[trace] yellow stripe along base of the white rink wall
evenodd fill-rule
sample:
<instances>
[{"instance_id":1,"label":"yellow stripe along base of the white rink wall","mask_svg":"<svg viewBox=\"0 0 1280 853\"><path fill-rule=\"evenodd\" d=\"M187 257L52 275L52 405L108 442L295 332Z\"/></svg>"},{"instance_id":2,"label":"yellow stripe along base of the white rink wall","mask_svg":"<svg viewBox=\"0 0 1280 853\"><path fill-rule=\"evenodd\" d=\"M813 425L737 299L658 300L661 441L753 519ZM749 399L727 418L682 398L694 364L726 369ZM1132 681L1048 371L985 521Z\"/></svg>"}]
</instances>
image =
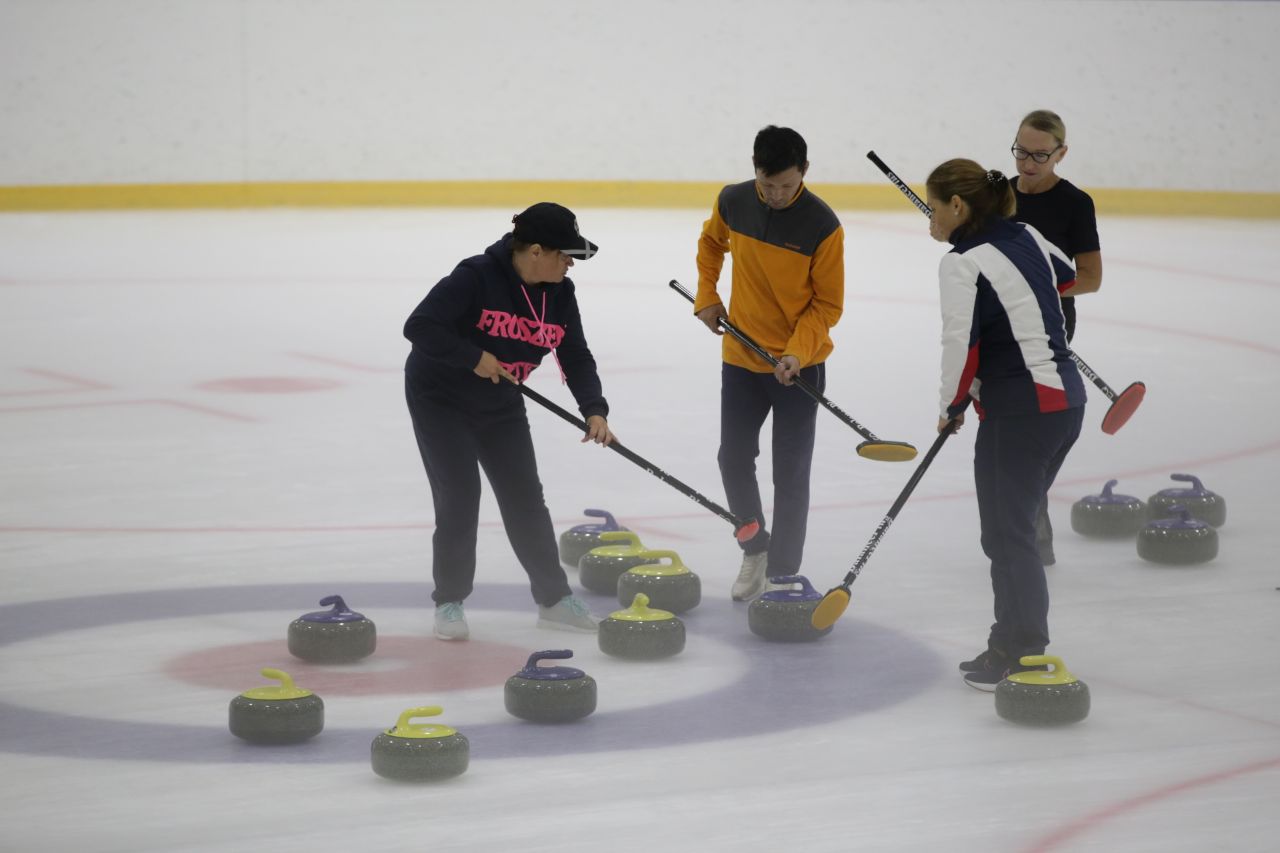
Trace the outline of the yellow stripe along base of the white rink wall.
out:
<instances>
[{"instance_id":1,"label":"yellow stripe along base of the white rink wall","mask_svg":"<svg viewBox=\"0 0 1280 853\"><path fill-rule=\"evenodd\" d=\"M242 207L705 207L723 183L676 181L344 181L0 187L0 211ZM837 210L911 210L888 184L813 184ZM916 187L916 192L924 192ZM1277 192L1089 190L1101 215L1280 219Z\"/></svg>"}]
</instances>

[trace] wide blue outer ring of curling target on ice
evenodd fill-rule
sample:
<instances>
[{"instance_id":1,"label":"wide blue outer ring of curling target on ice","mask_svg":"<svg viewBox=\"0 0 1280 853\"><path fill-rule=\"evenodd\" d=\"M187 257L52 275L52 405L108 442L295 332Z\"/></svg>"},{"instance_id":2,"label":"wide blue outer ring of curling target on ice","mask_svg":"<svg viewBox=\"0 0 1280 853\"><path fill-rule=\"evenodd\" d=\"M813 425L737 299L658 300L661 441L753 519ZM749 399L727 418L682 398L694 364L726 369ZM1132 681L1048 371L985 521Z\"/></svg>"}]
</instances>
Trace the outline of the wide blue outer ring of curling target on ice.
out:
<instances>
[{"instance_id":1,"label":"wide blue outer ring of curling target on ice","mask_svg":"<svg viewBox=\"0 0 1280 853\"><path fill-rule=\"evenodd\" d=\"M0 606L0 646L69 630L145 622L175 616L248 611L291 611L317 599L333 584L270 584L111 593ZM416 607L428 611L424 583L342 584L362 608ZM605 597L588 596L596 610ZM470 599L484 610L531 611L527 587L480 584ZM471 740L471 757L536 758L607 751L646 749L737 738L765 736L835 722L904 702L941 676L941 661L920 642L846 616L836 633L815 643L768 643L746 628L741 606L704 605L685 613L691 642L699 634L733 643L750 654L741 678L695 695L625 711L596 712L572 725L540 726L512 719L456 724ZM678 671L680 660L669 662ZM677 675L678 678L678 675ZM3 683L0 683L3 686ZM69 697L69 703L74 702ZM129 722L29 708L0 699L0 751L19 754L173 761L188 763L367 762L369 744L388 720L361 729L325 729L288 747L247 744L225 726Z\"/></svg>"}]
</instances>

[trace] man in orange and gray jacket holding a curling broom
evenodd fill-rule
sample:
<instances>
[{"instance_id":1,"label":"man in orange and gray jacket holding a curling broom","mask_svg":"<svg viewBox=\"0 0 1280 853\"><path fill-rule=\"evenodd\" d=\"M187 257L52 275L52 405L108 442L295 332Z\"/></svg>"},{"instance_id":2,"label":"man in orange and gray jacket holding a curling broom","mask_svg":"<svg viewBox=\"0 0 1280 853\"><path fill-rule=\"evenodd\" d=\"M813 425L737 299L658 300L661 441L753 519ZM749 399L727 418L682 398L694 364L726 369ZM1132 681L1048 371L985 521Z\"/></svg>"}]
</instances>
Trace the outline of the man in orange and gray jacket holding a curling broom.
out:
<instances>
[{"instance_id":1,"label":"man in orange and gray jacket holding a curling broom","mask_svg":"<svg viewBox=\"0 0 1280 853\"><path fill-rule=\"evenodd\" d=\"M760 520L760 533L742 544L735 601L759 596L767 578L800 571L818 403L792 387L792 378L824 391L829 330L845 305L845 232L831 207L804 186L804 138L771 124L756 134L751 161L755 181L724 187L703 224L694 302L712 332L722 334L719 318L727 318L778 360L771 368L736 338L723 339L721 478L730 511ZM724 252L733 255L727 311L716 291ZM771 411L772 532L755 478L760 428Z\"/></svg>"}]
</instances>

